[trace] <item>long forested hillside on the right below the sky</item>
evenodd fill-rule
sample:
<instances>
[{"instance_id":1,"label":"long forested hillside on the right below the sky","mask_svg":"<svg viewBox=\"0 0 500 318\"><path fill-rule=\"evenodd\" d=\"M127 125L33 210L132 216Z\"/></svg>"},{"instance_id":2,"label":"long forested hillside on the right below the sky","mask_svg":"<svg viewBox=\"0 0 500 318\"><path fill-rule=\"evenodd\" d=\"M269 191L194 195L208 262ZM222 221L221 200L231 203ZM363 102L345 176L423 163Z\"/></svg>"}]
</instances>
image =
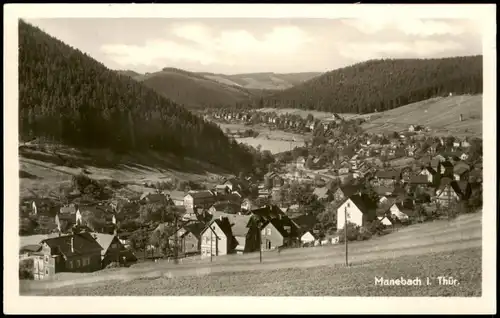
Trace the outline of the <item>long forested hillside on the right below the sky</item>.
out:
<instances>
[{"instance_id":1,"label":"long forested hillside on the right below the sky","mask_svg":"<svg viewBox=\"0 0 500 318\"><path fill-rule=\"evenodd\" d=\"M254 107L370 113L483 90L482 56L371 60L256 99Z\"/></svg>"}]
</instances>

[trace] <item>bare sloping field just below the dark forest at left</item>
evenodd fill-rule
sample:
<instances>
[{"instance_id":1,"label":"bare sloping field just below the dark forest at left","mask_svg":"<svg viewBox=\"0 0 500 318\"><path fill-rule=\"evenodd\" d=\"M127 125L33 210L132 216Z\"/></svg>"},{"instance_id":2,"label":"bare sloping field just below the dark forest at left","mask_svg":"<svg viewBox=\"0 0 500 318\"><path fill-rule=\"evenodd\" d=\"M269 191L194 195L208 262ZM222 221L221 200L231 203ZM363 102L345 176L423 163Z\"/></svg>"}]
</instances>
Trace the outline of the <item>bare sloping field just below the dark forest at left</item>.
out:
<instances>
[{"instance_id":1,"label":"bare sloping field just below the dark forest at left","mask_svg":"<svg viewBox=\"0 0 500 318\"><path fill-rule=\"evenodd\" d=\"M76 167L69 167L60 162L58 155L77 162ZM162 182L169 178L179 180L207 181L216 180L225 175L224 171L208 164L190 159L179 159L155 153L141 156L121 156L112 158L112 154L102 152L79 153L70 149L52 152L23 150L19 156L20 197L31 197L33 193L46 196L59 185L69 184L74 175L82 168L93 179L114 179L127 184L122 191L142 193L151 191L144 183ZM95 158L98 158L97 161ZM107 158L108 161L100 161ZM110 159L111 158L111 159ZM142 162L140 164L138 162Z\"/></svg>"}]
</instances>

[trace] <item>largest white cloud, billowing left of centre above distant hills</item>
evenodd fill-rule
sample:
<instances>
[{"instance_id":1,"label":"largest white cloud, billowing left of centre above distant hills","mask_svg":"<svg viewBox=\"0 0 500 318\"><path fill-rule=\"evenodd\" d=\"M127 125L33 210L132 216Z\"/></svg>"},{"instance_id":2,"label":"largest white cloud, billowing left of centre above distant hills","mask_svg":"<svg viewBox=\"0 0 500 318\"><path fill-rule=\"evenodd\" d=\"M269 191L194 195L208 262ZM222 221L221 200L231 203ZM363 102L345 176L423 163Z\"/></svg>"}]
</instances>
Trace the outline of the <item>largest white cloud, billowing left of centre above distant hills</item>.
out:
<instances>
[{"instance_id":1,"label":"largest white cloud, billowing left of centre above distant hills","mask_svg":"<svg viewBox=\"0 0 500 318\"><path fill-rule=\"evenodd\" d=\"M294 54L309 41L308 34L297 27L273 28L263 39L237 29L215 34L200 23L178 23L169 28L169 32L198 46L174 42L165 36L144 45L107 44L101 47L101 51L121 66L151 66L165 60L234 65L258 58Z\"/></svg>"}]
</instances>

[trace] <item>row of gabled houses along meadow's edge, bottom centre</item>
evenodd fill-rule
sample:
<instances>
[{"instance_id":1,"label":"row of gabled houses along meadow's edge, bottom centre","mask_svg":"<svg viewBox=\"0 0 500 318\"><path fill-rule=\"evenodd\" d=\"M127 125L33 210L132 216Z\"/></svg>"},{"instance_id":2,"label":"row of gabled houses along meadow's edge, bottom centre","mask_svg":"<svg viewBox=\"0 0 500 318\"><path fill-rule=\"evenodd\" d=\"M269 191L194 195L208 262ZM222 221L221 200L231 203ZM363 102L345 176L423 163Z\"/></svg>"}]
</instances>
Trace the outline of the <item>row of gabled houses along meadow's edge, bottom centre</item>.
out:
<instances>
[{"instance_id":1,"label":"row of gabled houses along meadow's edge, bottom centre","mask_svg":"<svg viewBox=\"0 0 500 318\"><path fill-rule=\"evenodd\" d=\"M184 255L201 257L243 254L279 247L293 246L300 241L300 231L283 211L267 205L235 214L206 211L208 218L188 220L168 236L168 244L177 242ZM155 231L168 227L160 225Z\"/></svg>"}]
</instances>

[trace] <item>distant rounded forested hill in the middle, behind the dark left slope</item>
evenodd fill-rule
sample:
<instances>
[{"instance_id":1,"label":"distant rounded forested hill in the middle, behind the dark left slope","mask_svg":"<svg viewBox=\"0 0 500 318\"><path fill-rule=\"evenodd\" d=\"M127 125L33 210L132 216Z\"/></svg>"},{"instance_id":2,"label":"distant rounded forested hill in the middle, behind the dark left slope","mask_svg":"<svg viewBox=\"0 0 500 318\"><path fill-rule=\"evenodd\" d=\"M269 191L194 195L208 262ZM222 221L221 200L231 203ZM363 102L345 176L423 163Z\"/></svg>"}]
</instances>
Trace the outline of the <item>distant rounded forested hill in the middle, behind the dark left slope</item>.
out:
<instances>
[{"instance_id":1,"label":"distant rounded forested hill in the middle, behind the dark left slope","mask_svg":"<svg viewBox=\"0 0 500 318\"><path fill-rule=\"evenodd\" d=\"M222 84L176 68L164 68L159 72L133 78L161 95L190 108L248 103L251 96L254 96L244 88Z\"/></svg>"}]
</instances>

